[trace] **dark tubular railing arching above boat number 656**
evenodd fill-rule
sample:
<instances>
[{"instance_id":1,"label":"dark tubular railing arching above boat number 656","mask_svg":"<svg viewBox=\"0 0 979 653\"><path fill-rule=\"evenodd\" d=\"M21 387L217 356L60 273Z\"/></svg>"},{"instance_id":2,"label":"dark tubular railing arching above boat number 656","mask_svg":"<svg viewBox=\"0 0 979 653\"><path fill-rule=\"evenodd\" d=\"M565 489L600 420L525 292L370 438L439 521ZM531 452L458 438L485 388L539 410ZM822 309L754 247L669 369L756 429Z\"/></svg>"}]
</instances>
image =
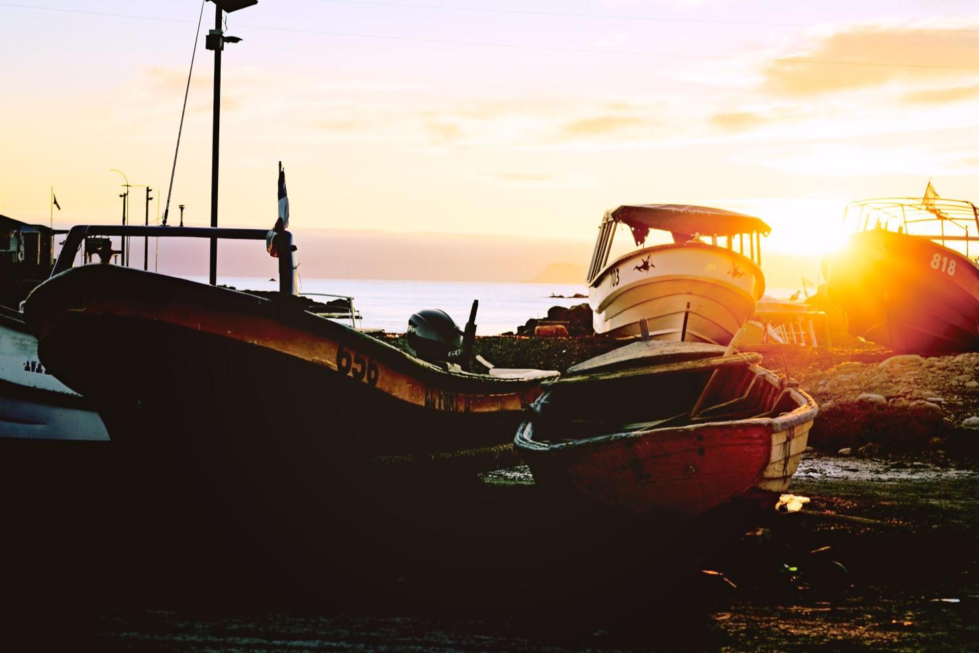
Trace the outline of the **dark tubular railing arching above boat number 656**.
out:
<instances>
[{"instance_id":1,"label":"dark tubular railing arching above boat number 656","mask_svg":"<svg viewBox=\"0 0 979 653\"><path fill-rule=\"evenodd\" d=\"M75 257L91 236L144 236L148 238L210 238L212 240L262 240L269 235L269 229L234 228L225 226L138 226L138 225L76 225L69 229L58 260L55 261L51 276L74 267ZM277 239L276 251L279 263L279 291L296 295L296 254L293 234L280 231L274 234Z\"/></svg>"}]
</instances>

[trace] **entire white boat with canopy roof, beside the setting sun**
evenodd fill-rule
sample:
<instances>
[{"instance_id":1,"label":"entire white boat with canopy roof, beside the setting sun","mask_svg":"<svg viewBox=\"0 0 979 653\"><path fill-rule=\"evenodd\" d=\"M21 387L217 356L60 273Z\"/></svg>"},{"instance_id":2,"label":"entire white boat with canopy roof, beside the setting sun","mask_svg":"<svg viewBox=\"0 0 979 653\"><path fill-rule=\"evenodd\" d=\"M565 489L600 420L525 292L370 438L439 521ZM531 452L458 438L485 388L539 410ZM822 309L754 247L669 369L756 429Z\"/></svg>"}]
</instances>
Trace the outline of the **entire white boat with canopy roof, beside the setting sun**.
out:
<instances>
[{"instance_id":1,"label":"entire white boat with canopy roof, beside the setting sun","mask_svg":"<svg viewBox=\"0 0 979 653\"><path fill-rule=\"evenodd\" d=\"M639 249L609 263L620 225ZM662 242L646 246L651 230ZM653 339L728 344L765 292L762 234L769 230L758 218L699 206L606 212L587 277L595 332L635 337L646 320Z\"/></svg>"}]
</instances>

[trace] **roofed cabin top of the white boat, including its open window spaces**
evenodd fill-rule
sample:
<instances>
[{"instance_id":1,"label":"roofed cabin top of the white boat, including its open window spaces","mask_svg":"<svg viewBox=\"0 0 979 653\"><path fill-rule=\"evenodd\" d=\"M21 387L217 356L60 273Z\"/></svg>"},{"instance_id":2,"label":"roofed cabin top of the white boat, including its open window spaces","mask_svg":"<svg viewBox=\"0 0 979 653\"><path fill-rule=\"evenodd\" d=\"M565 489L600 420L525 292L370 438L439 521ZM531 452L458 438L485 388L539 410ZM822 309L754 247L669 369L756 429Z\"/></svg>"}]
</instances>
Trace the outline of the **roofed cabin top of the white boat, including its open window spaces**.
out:
<instances>
[{"instance_id":1,"label":"roofed cabin top of the white boat, including its open window spaces","mask_svg":"<svg viewBox=\"0 0 979 653\"><path fill-rule=\"evenodd\" d=\"M616 238L623 230L629 234ZM606 211L598 226L586 281L591 283L601 275L610 259L636 247L691 241L737 251L761 265L762 235L768 235L769 230L758 218L723 209L686 204L620 206Z\"/></svg>"}]
</instances>

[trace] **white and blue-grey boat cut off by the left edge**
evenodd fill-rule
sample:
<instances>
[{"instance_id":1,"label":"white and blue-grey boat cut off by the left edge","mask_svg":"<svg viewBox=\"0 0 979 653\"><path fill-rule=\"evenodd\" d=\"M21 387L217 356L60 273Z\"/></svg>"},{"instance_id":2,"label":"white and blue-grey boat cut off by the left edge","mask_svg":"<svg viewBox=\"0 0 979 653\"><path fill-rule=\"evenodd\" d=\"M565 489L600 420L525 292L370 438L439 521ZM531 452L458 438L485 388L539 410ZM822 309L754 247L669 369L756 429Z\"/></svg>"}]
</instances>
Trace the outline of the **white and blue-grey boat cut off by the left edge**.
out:
<instances>
[{"instance_id":1,"label":"white and blue-grey boat cut off by the left edge","mask_svg":"<svg viewBox=\"0 0 979 653\"><path fill-rule=\"evenodd\" d=\"M109 439L98 413L37 358L37 338L0 306L0 439Z\"/></svg>"}]
</instances>

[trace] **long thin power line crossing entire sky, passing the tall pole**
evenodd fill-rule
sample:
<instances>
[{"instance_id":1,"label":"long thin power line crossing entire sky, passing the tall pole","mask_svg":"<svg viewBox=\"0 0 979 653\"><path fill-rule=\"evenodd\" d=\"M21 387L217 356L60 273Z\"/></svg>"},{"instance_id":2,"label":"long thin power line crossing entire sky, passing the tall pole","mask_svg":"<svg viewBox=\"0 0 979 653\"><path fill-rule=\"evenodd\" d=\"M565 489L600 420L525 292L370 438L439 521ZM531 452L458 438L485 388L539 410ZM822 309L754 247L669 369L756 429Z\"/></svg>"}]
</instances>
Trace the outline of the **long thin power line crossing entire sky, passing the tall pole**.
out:
<instances>
[{"instance_id":1,"label":"long thin power line crossing entire sky, passing the tall pole","mask_svg":"<svg viewBox=\"0 0 979 653\"><path fill-rule=\"evenodd\" d=\"M334 0L326 0L334 1ZM340 1L340 0L335 0ZM348 0L350 1L350 0ZM80 9L63 9L60 7L37 7L28 5L12 4L7 2L0 2L0 7L12 7L16 9L33 9L39 11L54 11L63 12L68 14L84 14L91 16L101 16L101 17L112 17L112 18L122 18L122 19L136 19L141 21L164 21L167 23L193 23L193 21L185 21L182 19L170 19L154 16L135 16L131 14L112 14L108 12L91 12L87 10ZM390 34L367 34L367 33L356 33L348 31L328 31L322 29L303 29L300 27L271 27L268 25L237 25L238 27L245 27L249 29L263 29L267 31L282 31L282 32L292 32L292 33L303 33L303 34L320 34L324 36L344 36L350 38L370 38L370 39L380 39L380 40L391 40L391 41L407 41L415 43L441 43L448 45L466 45L466 46L478 46L478 47L492 47L492 48L510 48L510 49L522 49L522 50L536 50L544 52L579 52L583 54L602 54L602 55L629 55L629 56L642 56L642 57L667 57L674 59L695 59L695 60L713 60L713 61L755 61L757 63L782 63L782 64L804 64L804 65L814 65L814 66L869 66L874 68L908 68L908 69L924 69L924 70L948 70L948 71L979 71L979 67L974 66L938 66L933 64L896 64L891 62L863 62L863 61L826 61L818 59L797 59L797 58L779 58L779 59L752 59L751 57L743 56L731 56L731 55L707 55L707 54L685 54L678 52L652 52L645 50L603 50L599 48L573 48L573 47L562 47L562 46L551 46L551 45L528 45L521 43L495 43L491 41L467 41L467 40L455 40L455 39L444 39L444 38L426 38L421 36L395 36Z\"/></svg>"}]
</instances>

